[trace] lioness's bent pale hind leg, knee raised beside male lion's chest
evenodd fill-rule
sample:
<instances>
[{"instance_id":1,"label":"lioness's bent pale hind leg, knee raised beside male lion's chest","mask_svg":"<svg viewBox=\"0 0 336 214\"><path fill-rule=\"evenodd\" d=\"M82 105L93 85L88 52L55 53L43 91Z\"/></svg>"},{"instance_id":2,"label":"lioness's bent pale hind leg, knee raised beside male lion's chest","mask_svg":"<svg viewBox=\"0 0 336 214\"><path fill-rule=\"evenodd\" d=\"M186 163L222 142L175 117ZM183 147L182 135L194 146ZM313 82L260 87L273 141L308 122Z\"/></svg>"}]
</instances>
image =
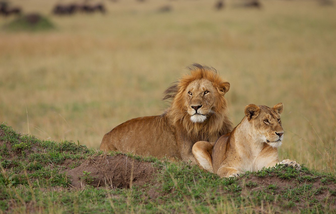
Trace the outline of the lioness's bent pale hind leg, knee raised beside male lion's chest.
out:
<instances>
[{"instance_id":1,"label":"lioness's bent pale hind leg, knee raised beside male lion's chest","mask_svg":"<svg viewBox=\"0 0 336 214\"><path fill-rule=\"evenodd\" d=\"M213 172L211 154L214 144L207 141L199 141L192 148L197 164L201 169L208 172Z\"/></svg>"}]
</instances>

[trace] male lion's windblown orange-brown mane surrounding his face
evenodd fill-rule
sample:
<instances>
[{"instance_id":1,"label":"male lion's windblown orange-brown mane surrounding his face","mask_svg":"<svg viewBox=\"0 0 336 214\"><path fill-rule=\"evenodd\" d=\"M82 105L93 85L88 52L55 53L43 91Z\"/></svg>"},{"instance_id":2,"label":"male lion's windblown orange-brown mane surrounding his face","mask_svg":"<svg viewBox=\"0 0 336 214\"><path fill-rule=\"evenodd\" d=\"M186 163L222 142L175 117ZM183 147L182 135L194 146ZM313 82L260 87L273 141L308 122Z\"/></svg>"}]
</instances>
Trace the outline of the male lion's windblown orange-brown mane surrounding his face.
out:
<instances>
[{"instance_id":1,"label":"male lion's windblown orange-brown mane surrounding his face","mask_svg":"<svg viewBox=\"0 0 336 214\"><path fill-rule=\"evenodd\" d=\"M230 132L233 124L229 119L227 101L222 92L222 85L226 83L222 79L217 70L213 67L193 64L187 67L190 74L182 76L179 81L173 83L164 92L163 100L170 101L170 107L165 111L173 125L180 127L185 137L191 139L202 139L202 141L214 142L218 136ZM218 90L214 107L211 115L208 116L203 123L194 123L190 120L190 115L184 107L185 90L187 86L201 78L206 78L212 82L213 86Z\"/></svg>"}]
</instances>

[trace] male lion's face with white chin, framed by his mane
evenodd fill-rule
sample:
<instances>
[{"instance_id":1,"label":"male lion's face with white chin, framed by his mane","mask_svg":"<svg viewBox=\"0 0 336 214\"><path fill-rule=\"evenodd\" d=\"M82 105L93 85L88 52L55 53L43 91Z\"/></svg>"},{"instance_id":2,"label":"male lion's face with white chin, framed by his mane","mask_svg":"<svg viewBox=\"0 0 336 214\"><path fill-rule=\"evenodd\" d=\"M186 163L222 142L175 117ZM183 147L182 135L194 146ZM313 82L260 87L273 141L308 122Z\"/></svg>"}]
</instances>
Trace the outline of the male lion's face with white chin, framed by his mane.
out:
<instances>
[{"instance_id":1,"label":"male lion's face with white chin, framed by his mane","mask_svg":"<svg viewBox=\"0 0 336 214\"><path fill-rule=\"evenodd\" d=\"M212 108L219 93L209 80L197 79L191 82L184 93L185 108L191 121L202 123L214 113Z\"/></svg>"}]
</instances>

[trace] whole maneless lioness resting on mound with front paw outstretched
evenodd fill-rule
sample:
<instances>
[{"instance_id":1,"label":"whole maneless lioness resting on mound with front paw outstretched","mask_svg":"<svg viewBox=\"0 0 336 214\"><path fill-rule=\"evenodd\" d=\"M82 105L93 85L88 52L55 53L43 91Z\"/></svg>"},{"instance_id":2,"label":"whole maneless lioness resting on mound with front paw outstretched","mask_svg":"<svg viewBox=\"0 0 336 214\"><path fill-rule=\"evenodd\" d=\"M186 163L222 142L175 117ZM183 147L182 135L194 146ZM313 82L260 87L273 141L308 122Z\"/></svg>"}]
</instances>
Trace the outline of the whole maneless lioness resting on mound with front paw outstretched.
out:
<instances>
[{"instance_id":1,"label":"whole maneless lioness resting on mound with front paw outstretched","mask_svg":"<svg viewBox=\"0 0 336 214\"><path fill-rule=\"evenodd\" d=\"M279 163L278 147L284 138L280 120L283 109L282 103L273 108L247 105L246 116L231 133L215 143L195 143L192 151L196 162L201 169L220 177L237 177L241 171L258 171L277 163L299 171L301 167L295 161L286 159Z\"/></svg>"}]
</instances>

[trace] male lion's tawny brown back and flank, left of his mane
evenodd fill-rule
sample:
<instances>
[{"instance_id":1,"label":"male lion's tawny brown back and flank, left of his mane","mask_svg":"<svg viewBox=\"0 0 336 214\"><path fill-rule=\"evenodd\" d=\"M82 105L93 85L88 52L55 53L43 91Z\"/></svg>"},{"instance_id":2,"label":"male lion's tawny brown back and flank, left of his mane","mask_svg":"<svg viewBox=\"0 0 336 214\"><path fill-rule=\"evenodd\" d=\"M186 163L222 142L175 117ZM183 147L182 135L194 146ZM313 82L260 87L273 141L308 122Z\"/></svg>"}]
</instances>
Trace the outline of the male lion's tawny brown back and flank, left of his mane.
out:
<instances>
[{"instance_id":1,"label":"male lion's tawny brown back and flank, left of his mane","mask_svg":"<svg viewBox=\"0 0 336 214\"><path fill-rule=\"evenodd\" d=\"M131 152L158 158L180 158L174 134L167 125L166 116L146 116L127 120L104 135L100 150ZM175 151L174 151L175 150Z\"/></svg>"}]
</instances>

